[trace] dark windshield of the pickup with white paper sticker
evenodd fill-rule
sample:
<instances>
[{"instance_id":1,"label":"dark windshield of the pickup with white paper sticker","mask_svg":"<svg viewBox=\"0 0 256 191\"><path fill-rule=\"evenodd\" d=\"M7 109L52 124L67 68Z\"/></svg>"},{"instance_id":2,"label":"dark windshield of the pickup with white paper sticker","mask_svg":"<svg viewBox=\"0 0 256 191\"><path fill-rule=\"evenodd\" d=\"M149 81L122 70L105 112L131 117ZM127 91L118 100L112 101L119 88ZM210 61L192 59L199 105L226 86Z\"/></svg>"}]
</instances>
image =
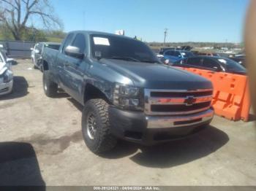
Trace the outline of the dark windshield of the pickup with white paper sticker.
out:
<instances>
[{"instance_id":1,"label":"dark windshield of the pickup with white paper sticker","mask_svg":"<svg viewBox=\"0 0 256 191\"><path fill-rule=\"evenodd\" d=\"M94 58L159 63L146 44L121 36L91 36L91 50Z\"/></svg>"}]
</instances>

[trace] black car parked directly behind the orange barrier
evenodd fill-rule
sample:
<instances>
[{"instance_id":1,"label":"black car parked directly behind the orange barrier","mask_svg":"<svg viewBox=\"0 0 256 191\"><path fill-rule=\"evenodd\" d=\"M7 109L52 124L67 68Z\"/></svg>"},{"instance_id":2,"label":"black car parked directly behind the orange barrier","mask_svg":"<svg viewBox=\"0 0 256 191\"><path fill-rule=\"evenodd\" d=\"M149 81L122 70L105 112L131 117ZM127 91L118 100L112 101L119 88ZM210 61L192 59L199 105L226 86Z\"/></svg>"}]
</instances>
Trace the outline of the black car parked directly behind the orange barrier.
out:
<instances>
[{"instance_id":1,"label":"black car parked directly behind the orange barrier","mask_svg":"<svg viewBox=\"0 0 256 191\"><path fill-rule=\"evenodd\" d=\"M234 74L246 74L246 69L239 63L232 61L229 58L215 56L193 56L176 61L171 65L211 71L224 71Z\"/></svg>"}]
</instances>

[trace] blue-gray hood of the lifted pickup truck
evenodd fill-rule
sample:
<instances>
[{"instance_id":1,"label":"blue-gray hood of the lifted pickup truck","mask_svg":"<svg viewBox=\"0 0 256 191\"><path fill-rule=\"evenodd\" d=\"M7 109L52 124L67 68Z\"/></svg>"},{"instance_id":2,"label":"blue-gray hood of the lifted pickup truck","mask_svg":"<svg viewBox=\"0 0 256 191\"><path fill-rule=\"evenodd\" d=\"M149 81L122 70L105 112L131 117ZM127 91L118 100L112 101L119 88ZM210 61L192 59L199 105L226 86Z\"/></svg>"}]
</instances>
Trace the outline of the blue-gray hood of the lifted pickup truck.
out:
<instances>
[{"instance_id":1,"label":"blue-gray hood of the lifted pickup truck","mask_svg":"<svg viewBox=\"0 0 256 191\"><path fill-rule=\"evenodd\" d=\"M212 88L208 79L172 66L114 59L102 59L101 63L131 79L136 87L173 90Z\"/></svg>"}]
</instances>

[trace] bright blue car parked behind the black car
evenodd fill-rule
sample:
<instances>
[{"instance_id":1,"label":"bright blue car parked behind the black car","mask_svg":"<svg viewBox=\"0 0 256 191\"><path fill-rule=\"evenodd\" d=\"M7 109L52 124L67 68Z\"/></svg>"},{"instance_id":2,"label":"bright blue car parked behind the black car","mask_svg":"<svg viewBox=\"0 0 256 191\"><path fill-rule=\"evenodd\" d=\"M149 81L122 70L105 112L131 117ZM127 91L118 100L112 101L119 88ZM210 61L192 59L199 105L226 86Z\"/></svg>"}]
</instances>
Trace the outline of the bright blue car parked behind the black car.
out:
<instances>
[{"instance_id":1,"label":"bright blue car parked behind the black car","mask_svg":"<svg viewBox=\"0 0 256 191\"><path fill-rule=\"evenodd\" d=\"M164 57L170 62L175 62L184 58L189 58L194 54L187 50L167 50L164 52Z\"/></svg>"}]
</instances>

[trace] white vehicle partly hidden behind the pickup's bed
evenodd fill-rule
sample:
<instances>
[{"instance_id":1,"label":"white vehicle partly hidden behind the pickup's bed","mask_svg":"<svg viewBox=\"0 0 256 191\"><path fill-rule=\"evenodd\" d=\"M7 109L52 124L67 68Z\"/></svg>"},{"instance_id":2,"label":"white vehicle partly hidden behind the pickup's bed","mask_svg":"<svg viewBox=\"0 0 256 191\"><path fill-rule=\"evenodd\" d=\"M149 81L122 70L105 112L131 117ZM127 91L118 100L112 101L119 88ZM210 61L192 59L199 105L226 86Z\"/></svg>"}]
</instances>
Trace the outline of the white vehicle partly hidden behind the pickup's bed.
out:
<instances>
[{"instance_id":1,"label":"white vehicle partly hidden behind the pickup's bed","mask_svg":"<svg viewBox=\"0 0 256 191\"><path fill-rule=\"evenodd\" d=\"M34 49L31 50L31 59L32 62L34 63L34 68L35 69L41 69L42 67L42 53L45 50L45 47L54 49L54 50L59 50L60 43L56 42L39 42L34 45Z\"/></svg>"}]
</instances>

